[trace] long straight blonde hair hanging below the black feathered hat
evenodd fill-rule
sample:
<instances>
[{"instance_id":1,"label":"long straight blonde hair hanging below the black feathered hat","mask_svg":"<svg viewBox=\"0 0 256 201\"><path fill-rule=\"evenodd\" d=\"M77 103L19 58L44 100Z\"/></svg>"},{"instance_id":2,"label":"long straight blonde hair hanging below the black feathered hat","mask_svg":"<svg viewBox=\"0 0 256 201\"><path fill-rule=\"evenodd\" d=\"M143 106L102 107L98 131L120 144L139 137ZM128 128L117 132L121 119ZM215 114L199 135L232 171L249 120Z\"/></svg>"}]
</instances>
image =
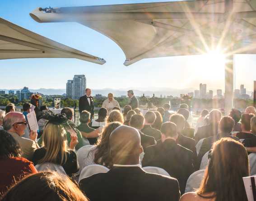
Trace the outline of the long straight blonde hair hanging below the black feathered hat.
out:
<instances>
[{"instance_id":1,"label":"long straight blonde hair hanging below the black feathered hat","mask_svg":"<svg viewBox=\"0 0 256 201\"><path fill-rule=\"evenodd\" d=\"M65 129L61 125L47 123L43 130L42 141L46 154L39 160L39 163L52 162L58 164L59 162L60 165L65 164L68 152Z\"/></svg>"}]
</instances>

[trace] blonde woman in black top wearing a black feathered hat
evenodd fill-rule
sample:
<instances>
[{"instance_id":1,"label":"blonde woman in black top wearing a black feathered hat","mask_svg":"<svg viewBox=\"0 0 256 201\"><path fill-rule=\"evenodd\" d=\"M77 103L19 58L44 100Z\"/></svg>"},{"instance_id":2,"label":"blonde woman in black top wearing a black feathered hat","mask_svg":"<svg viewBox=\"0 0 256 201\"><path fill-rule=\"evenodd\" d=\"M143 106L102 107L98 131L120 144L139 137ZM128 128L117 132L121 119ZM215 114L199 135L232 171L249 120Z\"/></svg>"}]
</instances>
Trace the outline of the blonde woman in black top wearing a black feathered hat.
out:
<instances>
[{"instance_id":1,"label":"blonde woman in black top wearing a black feathered hat","mask_svg":"<svg viewBox=\"0 0 256 201\"><path fill-rule=\"evenodd\" d=\"M32 161L35 165L46 162L61 165L66 174L71 175L79 170L74 151L78 141L77 136L71 136L70 149L68 148L67 134L62 126L65 120L63 115L49 119L42 134L42 147L35 151Z\"/></svg>"}]
</instances>

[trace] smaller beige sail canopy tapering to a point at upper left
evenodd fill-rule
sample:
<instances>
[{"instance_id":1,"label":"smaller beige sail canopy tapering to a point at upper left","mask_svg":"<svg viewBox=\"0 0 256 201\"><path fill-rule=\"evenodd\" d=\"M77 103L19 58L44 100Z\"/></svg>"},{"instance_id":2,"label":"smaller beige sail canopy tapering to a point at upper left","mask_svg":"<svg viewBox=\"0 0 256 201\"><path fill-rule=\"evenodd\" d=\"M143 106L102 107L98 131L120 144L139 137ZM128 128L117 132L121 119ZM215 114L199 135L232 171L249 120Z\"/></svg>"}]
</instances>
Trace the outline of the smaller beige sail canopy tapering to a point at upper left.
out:
<instances>
[{"instance_id":1,"label":"smaller beige sail canopy tapering to a point at upper left","mask_svg":"<svg viewBox=\"0 0 256 201\"><path fill-rule=\"evenodd\" d=\"M75 58L96 64L105 60L62 45L0 18L0 59Z\"/></svg>"}]
</instances>

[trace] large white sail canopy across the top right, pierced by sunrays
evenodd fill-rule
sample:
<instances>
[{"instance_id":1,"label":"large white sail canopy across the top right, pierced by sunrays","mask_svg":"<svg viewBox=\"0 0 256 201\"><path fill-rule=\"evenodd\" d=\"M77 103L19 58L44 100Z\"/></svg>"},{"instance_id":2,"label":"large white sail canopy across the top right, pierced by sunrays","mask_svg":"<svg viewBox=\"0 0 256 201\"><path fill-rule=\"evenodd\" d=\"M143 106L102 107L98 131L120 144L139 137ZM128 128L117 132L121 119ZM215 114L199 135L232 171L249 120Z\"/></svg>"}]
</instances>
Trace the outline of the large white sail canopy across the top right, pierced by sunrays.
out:
<instances>
[{"instance_id":1,"label":"large white sail canopy across the top right, pierced by sunrays","mask_svg":"<svg viewBox=\"0 0 256 201\"><path fill-rule=\"evenodd\" d=\"M37 22L78 22L118 44L125 65L145 58L256 53L256 1L191 0L162 3L37 8ZM231 48L232 46L232 48ZM232 52L231 52L232 51Z\"/></svg>"}]
</instances>

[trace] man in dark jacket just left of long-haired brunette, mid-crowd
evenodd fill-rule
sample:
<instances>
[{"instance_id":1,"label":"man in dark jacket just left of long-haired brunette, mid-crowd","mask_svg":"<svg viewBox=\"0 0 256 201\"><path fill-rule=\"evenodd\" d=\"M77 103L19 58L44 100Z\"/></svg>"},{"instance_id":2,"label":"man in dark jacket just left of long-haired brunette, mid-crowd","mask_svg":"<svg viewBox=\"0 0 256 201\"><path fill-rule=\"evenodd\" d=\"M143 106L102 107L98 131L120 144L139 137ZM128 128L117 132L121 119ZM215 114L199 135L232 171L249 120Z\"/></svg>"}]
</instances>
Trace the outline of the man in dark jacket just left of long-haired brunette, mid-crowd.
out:
<instances>
[{"instance_id":1,"label":"man in dark jacket just left of long-haired brunette, mid-crowd","mask_svg":"<svg viewBox=\"0 0 256 201\"><path fill-rule=\"evenodd\" d=\"M145 116L145 123L144 128L141 129L141 132L143 132L146 135L152 136L155 138L156 141L161 139L161 131L152 128L152 124L156 120L156 114L152 111L146 112Z\"/></svg>"}]
</instances>

